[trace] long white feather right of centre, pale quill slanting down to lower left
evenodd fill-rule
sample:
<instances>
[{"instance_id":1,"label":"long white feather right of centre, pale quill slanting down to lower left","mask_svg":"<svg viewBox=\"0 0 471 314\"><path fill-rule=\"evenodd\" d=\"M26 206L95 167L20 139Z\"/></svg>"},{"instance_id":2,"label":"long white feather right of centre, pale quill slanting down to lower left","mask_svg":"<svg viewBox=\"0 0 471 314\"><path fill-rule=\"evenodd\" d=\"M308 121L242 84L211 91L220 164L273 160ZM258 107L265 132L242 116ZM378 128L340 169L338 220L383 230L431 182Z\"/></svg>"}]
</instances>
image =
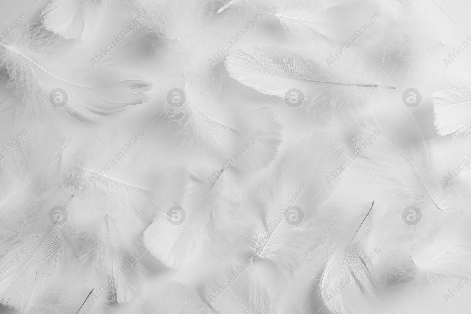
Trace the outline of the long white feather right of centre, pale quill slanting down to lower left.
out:
<instances>
[{"instance_id":1,"label":"long white feather right of centre, pale quill slanting down to lower left","mask_svg":"<svg viewBox=\"0 0 471 314\"><path fill-rule=\"evenodd\" d=\"M316 242L309 231L313 215L338 182L329 182L326 176L344 161L343 149L331 135L311 133L262 179L260 199L265 217L252 231L251 243L260 258L268 258L288 272L305 261ZM292 206L300 210L288 210ZM291 225L288 219L293 213L298 216ZM300 221L296 223L296 219Z\"/></svg>"}]
</instances>

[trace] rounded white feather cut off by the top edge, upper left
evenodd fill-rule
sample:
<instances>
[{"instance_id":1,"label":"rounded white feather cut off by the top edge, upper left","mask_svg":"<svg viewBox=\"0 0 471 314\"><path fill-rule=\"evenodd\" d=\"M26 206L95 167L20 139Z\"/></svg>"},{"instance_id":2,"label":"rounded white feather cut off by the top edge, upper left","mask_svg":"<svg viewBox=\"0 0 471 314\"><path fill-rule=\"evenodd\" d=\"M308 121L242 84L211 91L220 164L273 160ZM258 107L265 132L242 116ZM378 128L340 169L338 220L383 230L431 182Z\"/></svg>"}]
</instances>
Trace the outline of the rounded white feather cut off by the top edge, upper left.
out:
<instances>
[{"instance_id":1,"label":"rounded white feather cut off by the top edge, upper left","mask_svg":"<svg viewBox=\"0 0 471 314\"><path fill-rule=\"evenodd\" d=\"M65 39L89 35L101 8L107 0L49 0L41 12L41 23L47 30Z\"/></svg>"}]
</instances>

